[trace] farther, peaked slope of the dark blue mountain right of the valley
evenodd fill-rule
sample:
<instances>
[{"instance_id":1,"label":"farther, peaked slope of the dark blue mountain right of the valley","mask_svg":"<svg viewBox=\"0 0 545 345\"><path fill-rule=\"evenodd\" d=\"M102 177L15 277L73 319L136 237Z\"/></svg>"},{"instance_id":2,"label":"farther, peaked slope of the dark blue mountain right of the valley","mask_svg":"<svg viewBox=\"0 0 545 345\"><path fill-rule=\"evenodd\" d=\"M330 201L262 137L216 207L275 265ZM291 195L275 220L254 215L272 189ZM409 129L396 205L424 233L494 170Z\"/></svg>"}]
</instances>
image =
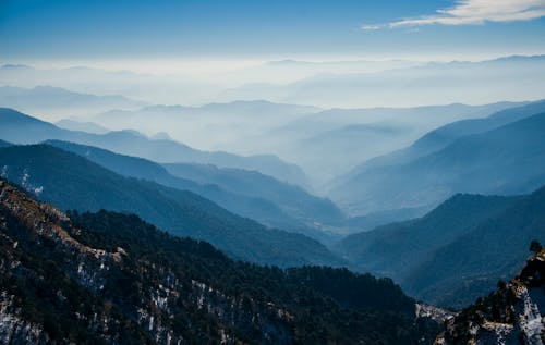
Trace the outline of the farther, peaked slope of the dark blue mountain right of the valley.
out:
<instances>
[{"instance_id":1,"label":"farther, peaked slope of the dark blue mountain right of the valley","mask_svg":"<svg viewBox=\"0 0 545 345\"><path fill-rule=\"evenodd\" d=\"M519 199L456 195L423 218L347 236L337 244L336 251L356 263L362 271L395 276L398 282L407 283L408 275L438 248Z\"/></svg>"}]
</instances>

